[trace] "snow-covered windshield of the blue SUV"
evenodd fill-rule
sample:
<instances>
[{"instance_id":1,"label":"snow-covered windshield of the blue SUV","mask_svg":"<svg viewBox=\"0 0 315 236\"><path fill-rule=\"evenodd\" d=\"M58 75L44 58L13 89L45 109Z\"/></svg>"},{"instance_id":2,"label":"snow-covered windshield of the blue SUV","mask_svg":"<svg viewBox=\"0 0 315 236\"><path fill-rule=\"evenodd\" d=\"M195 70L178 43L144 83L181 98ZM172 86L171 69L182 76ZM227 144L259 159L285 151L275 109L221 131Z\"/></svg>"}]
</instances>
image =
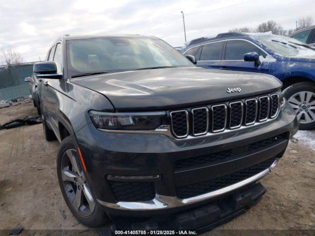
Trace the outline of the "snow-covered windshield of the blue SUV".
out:
<instances>
[{"instance_id":1,"label":"snow-covered windshield of the blue SUV","mask_svg":"<svg viewBox=\"0 0 315 236\"><path fill-rule=\"evenodd\" d=\"M315 56L315 50L310 45L302 43L294 38L280 35L255 36L267 48L284 57L309 57Z\"/></svg>"}]
</instances>

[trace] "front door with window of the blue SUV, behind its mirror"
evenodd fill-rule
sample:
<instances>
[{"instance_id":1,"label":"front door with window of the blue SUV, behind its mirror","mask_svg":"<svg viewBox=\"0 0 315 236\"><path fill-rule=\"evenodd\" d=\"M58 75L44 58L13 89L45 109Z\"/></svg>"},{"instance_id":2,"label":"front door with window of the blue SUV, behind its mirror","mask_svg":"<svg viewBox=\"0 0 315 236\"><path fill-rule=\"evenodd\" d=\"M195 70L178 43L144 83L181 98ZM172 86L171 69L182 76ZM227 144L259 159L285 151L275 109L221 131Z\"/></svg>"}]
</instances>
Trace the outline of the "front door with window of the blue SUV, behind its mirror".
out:
<instances>
[{"instance_id":1,"label":"front door with window of the blue SUV, behind its mirror","mask_svg":"<svg viewBox=\"0 0 315 236\"><path fill-rule=\"evenodd\" d=\"M241 39L227 40L220 69L269 73L270 63L262 61L262 64L257 66L254 61L244 61L244 54L251 52L256 52L264 58L267 56L263 50L250 41Z\"/></svg>"}]
</instances>

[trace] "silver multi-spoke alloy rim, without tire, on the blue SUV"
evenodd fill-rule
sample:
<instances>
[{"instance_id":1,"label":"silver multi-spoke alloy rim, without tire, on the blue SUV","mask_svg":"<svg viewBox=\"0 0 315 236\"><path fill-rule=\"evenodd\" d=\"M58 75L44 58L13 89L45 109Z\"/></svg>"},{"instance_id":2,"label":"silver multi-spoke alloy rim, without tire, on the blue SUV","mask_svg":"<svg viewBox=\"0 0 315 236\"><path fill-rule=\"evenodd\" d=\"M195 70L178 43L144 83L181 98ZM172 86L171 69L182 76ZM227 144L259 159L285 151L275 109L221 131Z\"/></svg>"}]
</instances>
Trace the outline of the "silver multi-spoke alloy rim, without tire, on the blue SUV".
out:
<instances>
[{"instance_id":1,"label":"silver multi-spoke alloy rim, without tire, on the blue SUV","mask_svg":"<svg viewBox=\"0 0 315 236\"><path fill-rule=\"evenodd\" d=\"M293 94L288 99L289 104L295 110L300 123L311 123L315 121L315 93L301 91Z\"/></svg>"}]
</instances>

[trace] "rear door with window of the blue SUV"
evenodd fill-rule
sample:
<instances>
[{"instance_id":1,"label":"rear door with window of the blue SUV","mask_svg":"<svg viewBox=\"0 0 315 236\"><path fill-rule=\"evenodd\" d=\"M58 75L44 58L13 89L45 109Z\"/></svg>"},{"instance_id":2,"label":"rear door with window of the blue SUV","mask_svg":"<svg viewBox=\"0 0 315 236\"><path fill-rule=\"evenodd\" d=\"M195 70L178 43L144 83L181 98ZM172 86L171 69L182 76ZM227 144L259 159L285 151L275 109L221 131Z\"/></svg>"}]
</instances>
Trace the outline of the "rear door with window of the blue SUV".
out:
<instances>
[{"instance_id":1,"label":"rear door with window of the blue SUV","mask_svg":"<svg viewBox=\"0 0 315 236\"><path fill-rule=\"evenodd\" d=\"M207 69L219 69L223 45L224 41L204 44L196 54L197 66Z\"/></svg>"}]
</instances>

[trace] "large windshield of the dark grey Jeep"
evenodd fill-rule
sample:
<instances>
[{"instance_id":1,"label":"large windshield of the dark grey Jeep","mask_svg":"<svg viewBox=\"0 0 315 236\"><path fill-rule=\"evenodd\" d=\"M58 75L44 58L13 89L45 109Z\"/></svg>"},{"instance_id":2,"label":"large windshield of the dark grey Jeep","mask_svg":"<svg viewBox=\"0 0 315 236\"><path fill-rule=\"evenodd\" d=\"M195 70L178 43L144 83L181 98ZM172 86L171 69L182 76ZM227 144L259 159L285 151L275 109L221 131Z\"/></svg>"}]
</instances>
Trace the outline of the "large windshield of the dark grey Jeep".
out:
<instances>
[{"instance_id":1,"label":"large windshield of the dark grey Jeep","mask_svg":"<svg viewBox=\"0 0 315 236\"><path fill-rule=\"evenodd\" d=\"M194 66L160 39L107 37L67 41L71 77L155 67Z\"/></svg>"}]
</instances>

